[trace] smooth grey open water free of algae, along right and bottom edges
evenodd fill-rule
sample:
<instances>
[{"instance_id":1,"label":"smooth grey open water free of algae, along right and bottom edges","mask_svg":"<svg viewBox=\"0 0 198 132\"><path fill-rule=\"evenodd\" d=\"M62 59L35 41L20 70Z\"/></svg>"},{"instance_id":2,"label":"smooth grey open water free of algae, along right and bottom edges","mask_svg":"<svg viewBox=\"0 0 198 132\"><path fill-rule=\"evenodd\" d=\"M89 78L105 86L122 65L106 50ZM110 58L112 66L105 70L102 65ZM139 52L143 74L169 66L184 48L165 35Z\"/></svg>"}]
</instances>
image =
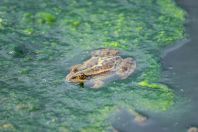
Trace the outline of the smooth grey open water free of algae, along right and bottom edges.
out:
<instances>
[{"instance_id":1,"label":"smooth grey open water free of algae, along right and bottom edges","mask_svg":"<svg viewBox=\"0 0 198 132\"><path fill-rule=\"evenodd\" d=\"M186 32L189 36L188 39L178 41L163 51L162 82L169 84L178 95L186 99L178 107L163 113L165 116L161 113L159 115L150 113L152 121L144 127L133 124L128 113L123 112L121 115L123 118L115 122L117 126L120 122L125 122L119 126L122 131L186 132L189 127L198 126L198 2L178 0L177 3L188 13Z\"/></svg>"}]
</instances>

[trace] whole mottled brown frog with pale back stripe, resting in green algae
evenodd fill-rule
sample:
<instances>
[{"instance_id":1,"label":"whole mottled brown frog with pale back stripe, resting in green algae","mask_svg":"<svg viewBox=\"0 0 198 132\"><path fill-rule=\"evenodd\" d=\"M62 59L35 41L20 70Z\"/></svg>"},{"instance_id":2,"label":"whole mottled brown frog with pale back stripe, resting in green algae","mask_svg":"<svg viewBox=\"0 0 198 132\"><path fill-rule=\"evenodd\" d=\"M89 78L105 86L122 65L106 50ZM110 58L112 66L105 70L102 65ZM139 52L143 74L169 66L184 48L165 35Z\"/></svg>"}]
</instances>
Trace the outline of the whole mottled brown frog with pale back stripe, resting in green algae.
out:
<instances>
[{"instance_id":1,"label":"whole mottled brown frog with pale back stripe, resting in green algae","mask_svg":"<svg viewBox=\"0 0 198 132\"><path fill-rule=\"evenodd\" d=\"M100 49L92 52L92 57L83 64L72 66L66 81L99 88L108 81L127 78L135 68L132 58L123 59L114 49Z\"/></svg>"}]
</instances>

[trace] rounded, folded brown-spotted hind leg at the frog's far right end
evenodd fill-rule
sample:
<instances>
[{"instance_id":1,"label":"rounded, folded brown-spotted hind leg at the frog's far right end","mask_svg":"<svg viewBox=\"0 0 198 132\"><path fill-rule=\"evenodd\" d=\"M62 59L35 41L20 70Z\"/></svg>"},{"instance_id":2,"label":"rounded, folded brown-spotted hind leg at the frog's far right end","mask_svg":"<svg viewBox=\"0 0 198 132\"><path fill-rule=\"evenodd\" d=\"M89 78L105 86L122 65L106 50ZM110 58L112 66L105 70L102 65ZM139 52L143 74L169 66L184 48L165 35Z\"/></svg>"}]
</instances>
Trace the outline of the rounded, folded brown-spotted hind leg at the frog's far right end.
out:
<instances>
[{"instance_id":1,"label":"rounded, folded brown-spotted hind leg at the frog's far right end","mask_svg":"<svg viewBox=\"0 0 198 132\"><path fill-rule=\"evenodd\" d=\"M136 62L132 58L123 59L120 66L118 67L116 74L121 79L126 79L129 75L131 75L136 68Z\"/></svg>"}]
</instances>

